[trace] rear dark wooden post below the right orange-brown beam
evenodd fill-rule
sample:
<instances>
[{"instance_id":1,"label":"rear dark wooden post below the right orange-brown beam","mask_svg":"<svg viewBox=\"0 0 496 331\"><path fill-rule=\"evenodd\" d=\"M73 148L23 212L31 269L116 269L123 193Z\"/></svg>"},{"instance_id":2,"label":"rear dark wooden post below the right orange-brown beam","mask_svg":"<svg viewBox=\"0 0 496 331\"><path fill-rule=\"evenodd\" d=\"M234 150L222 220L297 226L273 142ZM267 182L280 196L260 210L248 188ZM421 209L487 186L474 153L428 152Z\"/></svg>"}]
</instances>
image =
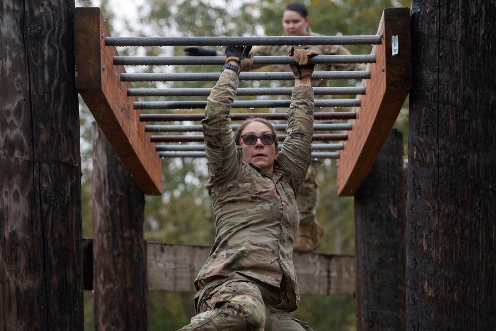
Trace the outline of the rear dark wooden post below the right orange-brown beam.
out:
<instances>
[{"instance_id":1,"label":"rear dark wooden post below the right orange-brown beam","mask_svg":"<svg viewBox=\"0 0 496 331\"><path fill-rule=\"evenodd\" d=\"M391 131L355 194L357 330L405 330L403 135Z\"/></svg>"}]
</instances>

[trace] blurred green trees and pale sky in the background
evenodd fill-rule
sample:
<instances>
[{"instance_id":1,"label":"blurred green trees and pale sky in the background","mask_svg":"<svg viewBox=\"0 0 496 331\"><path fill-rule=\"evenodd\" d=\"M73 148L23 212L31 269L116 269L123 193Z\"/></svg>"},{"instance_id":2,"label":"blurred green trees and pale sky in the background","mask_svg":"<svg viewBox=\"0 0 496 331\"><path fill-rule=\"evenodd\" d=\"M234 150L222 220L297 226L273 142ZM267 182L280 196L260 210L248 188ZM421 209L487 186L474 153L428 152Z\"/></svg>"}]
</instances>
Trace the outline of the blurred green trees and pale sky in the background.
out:
<instances>
[{"instance_id":1,"label":"blurred green trees and pale sky in the background","mask_svg":"<svg viewBox=\"0 0 496 331\"><path fill-rule=\"evenodd\" d=\"M121 18L119 1L76 0L77 6L99 6L114 36L281 36L282 8L285 0L145 0L136 10L138 24ZM323 35L374 35L382 10L409 6L407 0L305 0L310 13L310 28ZM192 45L193 46L193 45ZM354 54L370 54L372 46L347 46ZM218 50L221 50L218 48ZM119 48L124 56L185 56L183 47ZM134 72L215 72L220 66L140 66L126 67ZM267 70L265 68L264 70ZM135 82L136 87L211 87L214 82ZM240 87L267 86L269 82L241 82ZM331 83L332 84L332 83ZM335 83L356 85L356 81ZM244 97L249 98L249 97ZM192 98L168 98L167 101ZM151 99L147 99L148 101ZM158 100L158 98L157 98ZM162 99L163 100L163 99ZM197 98L197 100L204 100ZM91 216L91 122L81 102L83 234L92 236ZM248 112L249 110L236 110ZM260 110L267 111L267 110ZM163 112L163 111L160 111ZM170 111L172 112L172 111ZM174 112L202 112L175 110ZM405 132L407 108L401 112L397 128ZM406 139L405 139L406 146ZM164 159L163 192L146 197L145 238L149 241L210 245L215 234L210 198L204 189L207 179L204 159ZM319 167L320 185L317 219L324 227L319 252L354 254L353 199L337 197L336 162L327 160ZM148 296L149 330L177 330L194 315L193 293L151 292ZM92 329L93 298L85 293L85 330ZM302 296L295 318L314 330L355 330L354 299L350 296Z\"/></svg>"}]
</instances>

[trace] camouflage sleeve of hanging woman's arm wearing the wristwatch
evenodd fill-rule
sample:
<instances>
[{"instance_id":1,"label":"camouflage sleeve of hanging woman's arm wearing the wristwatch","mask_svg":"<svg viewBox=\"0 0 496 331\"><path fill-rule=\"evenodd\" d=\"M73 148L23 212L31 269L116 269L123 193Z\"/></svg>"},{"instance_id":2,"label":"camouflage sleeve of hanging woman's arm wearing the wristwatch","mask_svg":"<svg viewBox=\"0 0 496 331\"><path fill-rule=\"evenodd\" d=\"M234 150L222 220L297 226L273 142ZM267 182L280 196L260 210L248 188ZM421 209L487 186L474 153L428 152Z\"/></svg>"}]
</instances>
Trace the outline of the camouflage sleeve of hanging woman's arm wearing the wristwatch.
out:
<instances>
[{"instance_id":1,"label":"camouflage sleeve of hanging woman's arm wearing the wristwatch","mask_svg":"<svg viewBox=\"0 0 496 331\"><path fill-rule=\"evenodd\" d=\"M224 71L212 88L201 120L207 157L207 188L229 182L239 169L239 155L229 113L236 96L238 75Z\"/></svg>"}]
</instances>

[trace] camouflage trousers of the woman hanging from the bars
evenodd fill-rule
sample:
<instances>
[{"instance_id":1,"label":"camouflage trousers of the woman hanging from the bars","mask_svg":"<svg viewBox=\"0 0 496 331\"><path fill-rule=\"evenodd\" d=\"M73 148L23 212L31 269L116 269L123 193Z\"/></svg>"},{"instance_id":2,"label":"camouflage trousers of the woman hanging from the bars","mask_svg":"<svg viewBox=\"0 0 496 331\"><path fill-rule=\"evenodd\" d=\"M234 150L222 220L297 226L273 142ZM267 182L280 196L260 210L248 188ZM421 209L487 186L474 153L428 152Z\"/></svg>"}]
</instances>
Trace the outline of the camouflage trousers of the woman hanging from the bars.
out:
<instances>
[{"instance_id":1,"label":"camouflage trousers of the woman hanging from the bars","mask_svg":"<svg viewBox=\"0 0 496 331\"><path fill-rule=\"evenodd\" d=\"M234 273L196 294L197 315L179 331L312 331L291 317L282 297L275 287Z\"/></svg>"}]
</instances>

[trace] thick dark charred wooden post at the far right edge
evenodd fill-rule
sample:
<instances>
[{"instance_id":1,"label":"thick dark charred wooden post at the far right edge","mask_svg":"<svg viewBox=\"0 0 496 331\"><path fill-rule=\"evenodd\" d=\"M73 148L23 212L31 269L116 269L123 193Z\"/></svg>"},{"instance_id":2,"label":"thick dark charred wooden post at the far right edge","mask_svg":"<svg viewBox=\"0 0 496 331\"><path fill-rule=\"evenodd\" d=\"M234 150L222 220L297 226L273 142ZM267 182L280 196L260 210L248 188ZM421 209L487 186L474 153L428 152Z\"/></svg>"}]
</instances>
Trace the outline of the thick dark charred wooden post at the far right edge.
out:
<instances>
[{"instance_id":1,"label":"thick dark charred wooden post at the far right edge","mask_svg":"<svg viewBox=\"0 0 496 331\"><path fill-rule=\"evenodd\" d=\"M411 330L496 330L495 31L495 1L412 1Z\"/></svg>"}]
</instances>

